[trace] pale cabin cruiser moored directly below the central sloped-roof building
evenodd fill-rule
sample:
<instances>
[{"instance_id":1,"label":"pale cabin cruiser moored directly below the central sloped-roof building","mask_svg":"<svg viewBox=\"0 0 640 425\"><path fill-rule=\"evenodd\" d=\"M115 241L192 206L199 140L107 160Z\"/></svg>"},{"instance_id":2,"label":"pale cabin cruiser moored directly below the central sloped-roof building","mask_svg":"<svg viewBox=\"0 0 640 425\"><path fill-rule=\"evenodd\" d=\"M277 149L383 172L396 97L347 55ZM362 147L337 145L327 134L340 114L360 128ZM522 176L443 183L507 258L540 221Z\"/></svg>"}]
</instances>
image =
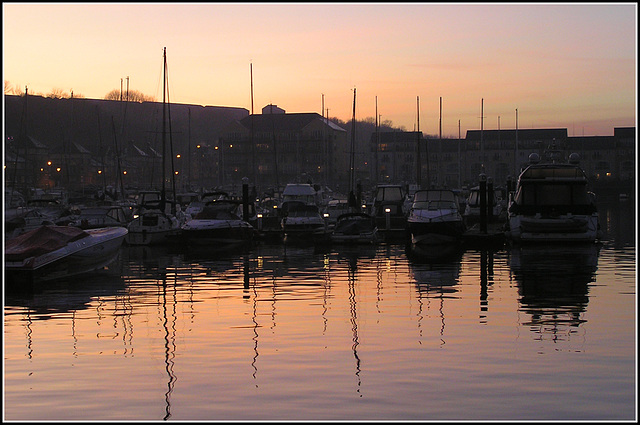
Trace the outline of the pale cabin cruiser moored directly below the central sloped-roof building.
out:
<instances>
[{"instance_id":1,"label":"pale cabin cruiser moored directly below the central sloped-roof building","mask_svg":"<svg viewBox=\"0 0 640 425\"><path fill-rule=\"evenodd\" d=\"M288 201L282 232L287 240L298 239L322 242L330 239L331 232L317 205L302 201Z\"/></svg>"}]
</instances>

